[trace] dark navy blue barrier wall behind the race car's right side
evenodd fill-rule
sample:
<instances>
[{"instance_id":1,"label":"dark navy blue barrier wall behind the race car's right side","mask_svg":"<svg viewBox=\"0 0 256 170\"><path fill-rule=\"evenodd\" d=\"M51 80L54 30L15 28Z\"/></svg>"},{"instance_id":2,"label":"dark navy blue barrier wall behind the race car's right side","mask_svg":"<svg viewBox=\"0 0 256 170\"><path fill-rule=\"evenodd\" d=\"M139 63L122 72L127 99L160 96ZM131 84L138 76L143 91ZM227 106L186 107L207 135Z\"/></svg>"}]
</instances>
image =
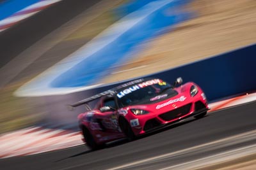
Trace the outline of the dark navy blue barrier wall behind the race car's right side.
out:
<instances>
[{"instance_id":1,"label":"dark navy blue barrier wall behind the race car's right side","mask_svg":"<svg viewBox=\"0 0 256 170\"><path fill-rule=\"evenodd\" d=\"M255 54L256 45L252 45L154 76L164 80L182 76L184 81L195 81L212 101L256 89Z\"/></svg>"}]
</instances>

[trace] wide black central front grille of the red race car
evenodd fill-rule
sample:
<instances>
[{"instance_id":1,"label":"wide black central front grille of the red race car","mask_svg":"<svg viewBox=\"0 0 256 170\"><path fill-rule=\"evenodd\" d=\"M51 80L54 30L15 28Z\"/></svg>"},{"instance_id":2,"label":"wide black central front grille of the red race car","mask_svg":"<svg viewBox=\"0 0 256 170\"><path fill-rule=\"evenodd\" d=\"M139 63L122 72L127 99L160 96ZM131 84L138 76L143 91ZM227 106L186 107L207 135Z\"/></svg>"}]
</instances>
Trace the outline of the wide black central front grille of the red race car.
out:
<instances>
[{"instance_id":1,"label":"wide black central front grille of the red race car","mask_svg":"<svg viewBox=\"0 0 256 170\"><path fill-rule=\"evenodd\" d=\"M191 103L186 104L185 106L182 106L182 107L177 108L175 110L163 113L163 114L159 115L159 117L162 118L165 121L170 121L174 118L182 117L182 116L189 113L191 105L192 105Z\"/></svg>"}]
</instances>

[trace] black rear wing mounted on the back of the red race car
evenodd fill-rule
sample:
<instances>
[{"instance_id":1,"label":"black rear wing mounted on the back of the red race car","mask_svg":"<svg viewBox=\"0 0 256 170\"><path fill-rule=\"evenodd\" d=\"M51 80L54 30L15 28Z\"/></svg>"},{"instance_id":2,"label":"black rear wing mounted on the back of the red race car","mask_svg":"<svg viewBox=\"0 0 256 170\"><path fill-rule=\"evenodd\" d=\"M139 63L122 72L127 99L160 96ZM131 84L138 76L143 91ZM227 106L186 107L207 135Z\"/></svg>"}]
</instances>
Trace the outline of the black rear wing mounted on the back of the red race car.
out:
<instances>
[{"instance_id":1,"label":"black rear wing mounted on the back of the red race car","mask_svg":"<svg viewBox=\"0 0 256 170\"><path fill-rule=\"evenodd\" d=\"M106 91L106 92L102 92L102 93L100 93L100 94L96 94L95 96L89 97L89 98L87 98L87 99L83 99L83 100L81 100L81 101L78 101L77 103L68 104L68 105L67 105L67 106L68 106L68 110L74 110L74 108L76 108L77 106L81 106L81 105L83 105L83 104L86 106L86 108L87 108L88 110L92 110L92 109L90 108L90 106L88 105L89 102L94 101L95 99L99 99L99 98L102 97L102 96L113 95L113 94L116 94L116 92L113 91L113 90L108 90L108 91Z\"/></svg>"}]
</instances>

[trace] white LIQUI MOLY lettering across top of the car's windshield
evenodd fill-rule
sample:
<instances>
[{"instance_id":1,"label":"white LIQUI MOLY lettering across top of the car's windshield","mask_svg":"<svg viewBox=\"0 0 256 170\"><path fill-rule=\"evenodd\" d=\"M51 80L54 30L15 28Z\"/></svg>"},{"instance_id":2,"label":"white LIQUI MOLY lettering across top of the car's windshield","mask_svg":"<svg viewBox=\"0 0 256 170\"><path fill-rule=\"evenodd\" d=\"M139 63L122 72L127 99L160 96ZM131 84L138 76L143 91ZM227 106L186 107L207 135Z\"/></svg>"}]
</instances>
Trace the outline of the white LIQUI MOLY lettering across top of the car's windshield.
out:
<instances>
[{"instance_id":1,"label":"white LIQUI MOLY lettering across top of the car's windshield","mask_svg":"<svg viewBox=\"0 0 256 170\"><path fill-rule=\"evenodd\" d=\"M165 82L164 82L165 83ZM122 92L119 92L116 96L118 98L122 98L124 97L126 94L129 94L131 92L134 92L135 90L141 89L143 87L147 87L148 85L154 85L154 84L162 84L163 85L163 81L159 80L159 79L154 79L154 80L148 80L145 81L143 83L134 85L132 87L129 87L128 89L123 90ZM166 84L166 83L165 83Z\"/></svg>"}]
</instances>

